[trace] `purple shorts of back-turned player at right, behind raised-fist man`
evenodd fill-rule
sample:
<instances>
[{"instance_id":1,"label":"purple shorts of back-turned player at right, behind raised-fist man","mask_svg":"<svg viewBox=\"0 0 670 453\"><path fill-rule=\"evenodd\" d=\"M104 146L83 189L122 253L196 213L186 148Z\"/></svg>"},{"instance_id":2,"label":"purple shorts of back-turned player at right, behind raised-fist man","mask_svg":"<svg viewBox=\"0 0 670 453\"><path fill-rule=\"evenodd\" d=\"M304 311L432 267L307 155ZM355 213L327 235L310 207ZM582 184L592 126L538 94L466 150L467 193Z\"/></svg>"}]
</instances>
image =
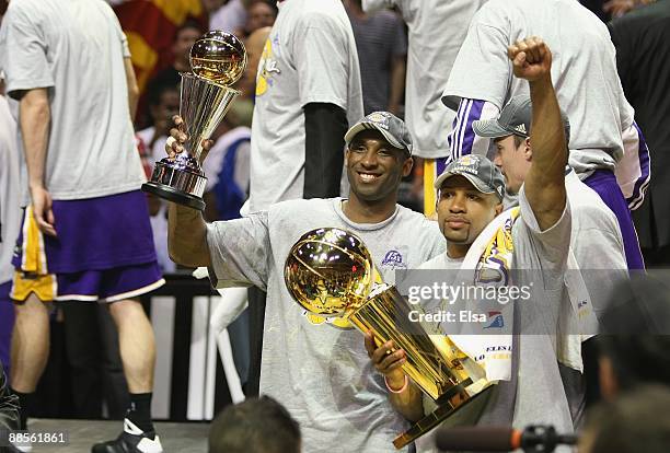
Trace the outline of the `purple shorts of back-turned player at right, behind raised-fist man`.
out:
<instances>
[{"instance_id":1,"label":"purple shorts of back-turned player at right, behind raised-fist man","mask_svg":"<svg viewBox=\"0 0 670 453\"><path fill-rule=\"evenodd\" d=\"M644 269L645 260L639 249L637 233L633 224L631 210L616 183L616 176L610 170L597 170L584 183L596 190L605 205L614 212L624 240L624 251L628 269Z\"/></svg>"}]
</instances>

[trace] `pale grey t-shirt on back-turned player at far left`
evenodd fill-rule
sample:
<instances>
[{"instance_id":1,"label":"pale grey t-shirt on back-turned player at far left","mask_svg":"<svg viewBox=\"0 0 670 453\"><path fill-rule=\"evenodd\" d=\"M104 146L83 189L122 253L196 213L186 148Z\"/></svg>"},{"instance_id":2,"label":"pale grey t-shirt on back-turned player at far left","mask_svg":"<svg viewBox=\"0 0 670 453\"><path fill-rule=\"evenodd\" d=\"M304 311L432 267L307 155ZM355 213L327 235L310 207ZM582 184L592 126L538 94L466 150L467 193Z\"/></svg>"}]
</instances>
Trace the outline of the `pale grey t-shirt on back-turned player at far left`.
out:
<instances>
[{"instance_id":1,"label":"pale grey t-shirt on back-turned player at far left","mask_svg":"<svg viewBox=\"0 0 670 453\"><path fill-rule=\"evenodd\" d=\"M0 66L10 95L48 89L45 183L55 200L136 190L146 181L128 108L129 56L118 20L102 0L10 3L0 28ZM24 201L26 175L22 164Z\"/></svg>"}]
</instances>

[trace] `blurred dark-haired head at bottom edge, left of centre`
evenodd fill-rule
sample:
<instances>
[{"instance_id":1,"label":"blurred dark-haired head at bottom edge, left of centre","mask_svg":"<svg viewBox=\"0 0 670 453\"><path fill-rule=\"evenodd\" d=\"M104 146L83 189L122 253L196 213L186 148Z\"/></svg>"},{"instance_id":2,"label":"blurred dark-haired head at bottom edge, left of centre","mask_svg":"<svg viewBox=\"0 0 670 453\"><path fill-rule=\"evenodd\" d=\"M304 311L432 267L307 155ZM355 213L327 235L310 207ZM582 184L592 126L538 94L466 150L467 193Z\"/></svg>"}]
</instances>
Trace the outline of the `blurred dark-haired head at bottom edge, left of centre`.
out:
<instances>
[{"instance_id":1,"label":"blurred dark-haired head at bottom edge, left of centre","mask_svg":"<svg viewBox=\"0 0 670 453\"><path fill-rule=\"evenodd\" d=\"M300 427L269 396L228 406L211 422L209 453L300 453Z\"/></svg>"}]
</instances>

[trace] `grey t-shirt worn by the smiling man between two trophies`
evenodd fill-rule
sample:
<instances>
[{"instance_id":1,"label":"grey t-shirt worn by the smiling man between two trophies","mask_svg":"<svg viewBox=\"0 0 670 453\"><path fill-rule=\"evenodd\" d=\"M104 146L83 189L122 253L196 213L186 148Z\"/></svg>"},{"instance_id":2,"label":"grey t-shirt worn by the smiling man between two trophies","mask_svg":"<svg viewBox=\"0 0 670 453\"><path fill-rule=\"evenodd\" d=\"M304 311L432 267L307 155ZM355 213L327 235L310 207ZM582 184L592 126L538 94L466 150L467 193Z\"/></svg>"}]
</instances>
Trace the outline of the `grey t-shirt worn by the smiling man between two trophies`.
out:
<instances>
[{"instance_id":1,"label":"grey t-shirt worn by the smiling man between two trophies","mask_svg":"<svg viewBox=\"0 0 670 453\"><path fill-rule=\"evenodd\" d=\"M408 425L391 406L362 335L312 324L286 289L284 264L302 234L336 226L357 234L384 281L393 283L395 269L416 268L444 253L444 239L437 222L403 207L380 223L353 223L342 201L284 201L210 224L209 275L218 288L267 290L261 392L277 398L300 423L305 452L392 452L393 439Z\"/></svg>"}]
</instances>

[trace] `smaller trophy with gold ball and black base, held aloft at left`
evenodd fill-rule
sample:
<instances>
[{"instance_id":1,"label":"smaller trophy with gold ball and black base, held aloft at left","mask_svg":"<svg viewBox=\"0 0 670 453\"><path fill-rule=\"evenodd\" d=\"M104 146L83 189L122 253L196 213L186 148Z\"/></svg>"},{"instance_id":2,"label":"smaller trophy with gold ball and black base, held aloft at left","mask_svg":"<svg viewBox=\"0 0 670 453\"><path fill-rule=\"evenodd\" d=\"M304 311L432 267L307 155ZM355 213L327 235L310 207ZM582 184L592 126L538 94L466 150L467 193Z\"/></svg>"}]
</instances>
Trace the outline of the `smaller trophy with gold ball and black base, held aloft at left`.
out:
<instances>
[{"instance_id":1,"label":"smaller trophy with gold ball and black base, held aloft at left","mask_svg":"<svg viewBox=\"0 0 670 453\"><path fill-rule=\"evenodd\" d=\"M181 73L180 116L184 120L182 131L188 136L184 152L157 162L142 190L203 210L207 182L200 166L203 140L211 137L240 94L230 85L244 73L246 49L234 35L211 31L195 42L189 59L192 72Z\"/></svg>"}]
</instances>

